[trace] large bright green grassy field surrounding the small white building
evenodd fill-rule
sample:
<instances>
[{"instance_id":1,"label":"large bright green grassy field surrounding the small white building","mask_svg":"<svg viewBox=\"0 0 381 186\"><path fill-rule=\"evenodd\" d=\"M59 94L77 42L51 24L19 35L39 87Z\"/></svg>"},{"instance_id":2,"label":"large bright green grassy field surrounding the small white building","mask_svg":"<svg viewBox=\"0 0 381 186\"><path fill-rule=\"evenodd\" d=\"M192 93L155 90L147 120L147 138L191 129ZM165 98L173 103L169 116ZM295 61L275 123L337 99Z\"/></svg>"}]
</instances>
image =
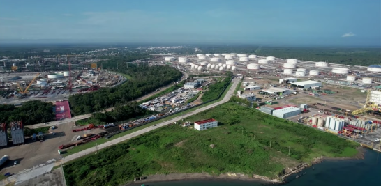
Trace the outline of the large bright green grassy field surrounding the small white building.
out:
<instances>
[{"instance_id":1,"label":"large bright green grassy field surrounding the small white building","mask_svg":"<svg viewBox=\"0 0 381 186\"><path fill-rule=\"evenodd\" d=\"M311 162L313 157L352 157L357 153L357 145L350 141L235 103L184 121L204 118L217 119L219 126L197 131L170 125L70 162L63 166L66 183L123 185L135 176L195 172L275 178L285 167Z\"/></svg>"}]
</instances>

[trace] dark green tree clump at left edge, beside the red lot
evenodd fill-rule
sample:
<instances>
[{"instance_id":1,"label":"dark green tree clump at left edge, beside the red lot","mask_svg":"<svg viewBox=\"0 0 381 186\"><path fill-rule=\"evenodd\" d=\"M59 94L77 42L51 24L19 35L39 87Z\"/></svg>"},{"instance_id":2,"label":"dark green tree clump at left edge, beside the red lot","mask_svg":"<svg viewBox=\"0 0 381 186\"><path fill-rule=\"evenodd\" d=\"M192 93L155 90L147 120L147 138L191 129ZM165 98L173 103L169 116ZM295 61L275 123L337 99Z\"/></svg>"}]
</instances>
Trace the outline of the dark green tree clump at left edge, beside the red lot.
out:
<instances>
[{"instance_id":1,"label":"dark green tree clump at left edge, beside the red lot","mask_svg":"<svg viewBox=\"0 0 381 186\"><path fill-rule=\"evenodd\" d=\"M12 104L0 105L1 123L9 124L12 121L22 121L23 125L32 125L54 121L54 118L53 104L50 102L33 100L22 103L21 107L15 107Z\"/></svg>"}]
</instances>

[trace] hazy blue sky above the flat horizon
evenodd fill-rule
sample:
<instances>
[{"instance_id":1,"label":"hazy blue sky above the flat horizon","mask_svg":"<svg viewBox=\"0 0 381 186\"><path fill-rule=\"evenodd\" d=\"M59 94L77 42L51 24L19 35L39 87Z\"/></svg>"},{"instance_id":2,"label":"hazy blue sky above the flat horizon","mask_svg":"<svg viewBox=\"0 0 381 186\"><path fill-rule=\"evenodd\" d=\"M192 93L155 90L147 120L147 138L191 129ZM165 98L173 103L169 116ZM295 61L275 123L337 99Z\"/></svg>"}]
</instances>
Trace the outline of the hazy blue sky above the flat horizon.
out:
<instances>
[{"instance_id":1,"label":"hazy blue sky above the flat horizon","mask_svg":"<svg viewBox=\"0 0 381 186\"><path fill-rule=\"evenodd\" d=\"M381 45L379 0L0 1L0 40Z\"/></svg>"}]
</instances>

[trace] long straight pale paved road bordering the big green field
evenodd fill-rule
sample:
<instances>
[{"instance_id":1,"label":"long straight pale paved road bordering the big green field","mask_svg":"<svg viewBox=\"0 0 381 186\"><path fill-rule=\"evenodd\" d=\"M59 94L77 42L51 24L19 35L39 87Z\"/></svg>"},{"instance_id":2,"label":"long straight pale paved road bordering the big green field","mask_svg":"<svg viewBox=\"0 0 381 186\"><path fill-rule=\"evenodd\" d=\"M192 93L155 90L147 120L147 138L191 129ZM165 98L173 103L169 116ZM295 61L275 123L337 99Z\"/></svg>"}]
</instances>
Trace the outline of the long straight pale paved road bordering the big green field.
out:
<instances>
[{"instance_id":1,"label":"long straight pale paved road bordering the big green field","mask_svg":"<svg viewBox=\"0 0 381 186\"><path fill-rule=\"evenodd\" d=\"M119 137L119 138L117 138L117 139L113 139L113 140L111 140L111 141L107 141L107 142L104 143L104 144L100 144L97 148L98 148L98 150L100 150L100 149L102 149L102 148L106 148L106 147L108 147L108 146L112 146L112 145L115 145L115 144L119 144L121 141L125 141L126 139L131 139L131 138L133 138L133 137L137 137L137 136L139 136L139 135L141 135L141 134L144 134L144 133L146 133L146 132L150 132L151 130L155 130L155 129L158 128L158 127L164 127L164 126L166 126L166 125L170 125L171 123L174 123L174 121L179 121L179 120L181 120L181 118L186 118L186 117L188 117L188 116L192 116L192 115L194 115L194 114L200 113L200 112L205 111L205 110L207 110L207 109L211 109L211 108L216 107L216 106L218 106L218 105L220 105L220 104L223 104L223 103L225 103L225 102L228 102L228 101L230 100L230 97L231 97L232 94L234 93L234 90L235 90L235 88L237 87L238 82L239 82L239 79L234 79L234 80L233 80L233 85L232 85L232 87L231 87L230 90L227 92L227 94L225 95L225 97L223 98L223 100L221 100L221 101L219 101L219 102L215 102L215 103L213 103L213 104L209 104L209 105L207 105L206 107L202 107L202 108L200 108L200 109L197 109L197 110L195 110L195 111L191 111L191 112L189 112L189 113L187 113L187 114L184 114L184 115L182 115L182 116L178 116L178 117L176 117L176 118L172 118L172 119L170 119L170 120L168 120L168 121L164 121L163 123L159 123L157 126L147 127L147 128L142 129L142 130L137 130L136 132L133 132L133 133L131 133L131 134L127 134L127 135L125 135L125 136L123 136L123 137ZM77 158L79 158L79 157L82 157L83 155L87 155L87 154L89 154L89 153L94 153L94 152L96 152L97 148L96 148L96 147L88 148L88 149L86 149L86 150L82 150L82 151L80 151L79 153L75 153L75 154L73 154L73 155L68 155L68 156L65 157L64 159L65 159L66 162L71 161L71 160L75 160L75 159L77 159ZM60 163L61 163L61 162L57 162L57 163L56 163L56 166L59 165Z\"/></svg>"}]
</instances>

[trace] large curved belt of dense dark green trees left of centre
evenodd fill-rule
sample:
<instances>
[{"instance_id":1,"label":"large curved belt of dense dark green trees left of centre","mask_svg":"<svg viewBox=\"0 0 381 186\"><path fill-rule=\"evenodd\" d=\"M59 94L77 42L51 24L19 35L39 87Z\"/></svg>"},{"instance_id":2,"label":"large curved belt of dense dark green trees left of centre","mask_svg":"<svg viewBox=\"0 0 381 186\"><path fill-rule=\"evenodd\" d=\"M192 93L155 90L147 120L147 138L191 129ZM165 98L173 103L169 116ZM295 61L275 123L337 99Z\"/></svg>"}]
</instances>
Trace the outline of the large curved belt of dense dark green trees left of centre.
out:
<instances>
[{"instance_id":1,"label":"large curved belt of dense dark green trees left of centre","mask_svg":"<svg viewBox=\"0 0 381 186\"><path fill-rule=\"evenodd\" d=\"M69 97L70 107L74 115L101 111L115 106L117 103L127 103L133 99L155 91L181 79L181 72L168 66L136 67L127 68L120 64L113 70L124 73L132 79L114 88L102 88L91 93L77 94Z\"/></svg>"}]
</instances>

